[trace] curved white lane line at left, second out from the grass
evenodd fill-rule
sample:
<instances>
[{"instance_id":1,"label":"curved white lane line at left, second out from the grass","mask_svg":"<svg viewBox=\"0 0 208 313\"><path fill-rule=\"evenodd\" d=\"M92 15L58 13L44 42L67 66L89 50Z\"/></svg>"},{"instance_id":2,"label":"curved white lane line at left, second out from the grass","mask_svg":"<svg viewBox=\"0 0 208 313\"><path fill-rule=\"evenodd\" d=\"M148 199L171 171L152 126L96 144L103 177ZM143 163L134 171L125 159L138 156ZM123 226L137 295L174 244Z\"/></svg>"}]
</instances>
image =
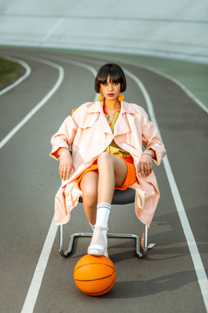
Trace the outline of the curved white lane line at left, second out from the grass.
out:
<instances>
[{"instance_id":1,"label":"curved white lane line at left, second out from the grass","mask_svg":"<svg viewBox=\"0 0 208 313\"><path fill-rule=\"evenodd\" d=\"M35 57L28 57L28 56L23 56L25 58L38 61L44 64L47 64L49 66L53 66L53 68L56 68L59 71L59 77L57 79L57 82L51 88L51 90L47 93L47 95L8 133L8 135L0 142L0 149L15 135L15 133L25 124L30 120L30 118L50 99L51 96L54 95L54 93L57 91L57 89L60 87L63 78L64 78L64 69L62 66L51 62L47 61L44 59L40 58L35 58Z\"/></svg>"}]
</instances>

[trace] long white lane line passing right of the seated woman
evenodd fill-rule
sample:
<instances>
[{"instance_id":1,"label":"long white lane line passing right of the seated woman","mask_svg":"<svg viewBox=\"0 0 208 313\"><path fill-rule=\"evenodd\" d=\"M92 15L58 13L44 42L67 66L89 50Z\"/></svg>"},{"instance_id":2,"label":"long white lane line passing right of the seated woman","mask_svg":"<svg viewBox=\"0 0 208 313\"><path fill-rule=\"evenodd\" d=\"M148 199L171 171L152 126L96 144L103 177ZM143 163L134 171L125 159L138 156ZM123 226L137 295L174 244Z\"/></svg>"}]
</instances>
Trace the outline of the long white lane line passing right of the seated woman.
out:
<instances>
[{"instance_id":1,"label":"long white lane line passing right of the seated woman","mask_svg":"<svg viewBox=\"0 0 208 313\"><path fill-rule=\"evenodd\" d=\"M160 133L159 126L158 126L157 120L156 120L155 115L154 115L153 105L152 105L151 99L149 97L149 94L146 91L146 88L144 87L143 83L138 79L138 77L136 77L134 74L132 74L131 72L129 72L125 69L123 69L123 70L124 70L124 73L126 73L126 75L128 75L129 77L134 79L134 81L138 84L139 88L141 89L141 91L144 95L144 98L146 100L146 103L147 103L147 108L148 108L150 120L158 128L158 131ZM160 136L161 136L161 133L160 133ZM162 137L161 137L161 139L162 139ZM175 178L173 176L173 172L172 172L170 163L168 161L167 154L163 158L163 163L164 163L166 175L168 177L168 182L169 182L170 189L171 189L171 192L173 195L173 199L175 202L175 206L176 206L179 218L180 218L181 226L184 230L184 234L186 236L189 251L190 251L190 254L192 257L192 261L194 263L194 268L196 271L196 275L197 275L198 283L199 283L199 286L201 289L201 294L202 294L202 297L204 300L204 304L205 304L206 310L208 311L208 280L207 280L206 272L204 270L203 263L202 263L201 258L200 258L197 244L196 244L194 235L192 233L192 230L191 230L191 227L189 224L189 220L187 218L186 211L184 209L184 205L183 205L183 202L181 200L181 197L180 197L180 194L179 194L176 182L175 182Z\"/></svg>"}]
</instances>

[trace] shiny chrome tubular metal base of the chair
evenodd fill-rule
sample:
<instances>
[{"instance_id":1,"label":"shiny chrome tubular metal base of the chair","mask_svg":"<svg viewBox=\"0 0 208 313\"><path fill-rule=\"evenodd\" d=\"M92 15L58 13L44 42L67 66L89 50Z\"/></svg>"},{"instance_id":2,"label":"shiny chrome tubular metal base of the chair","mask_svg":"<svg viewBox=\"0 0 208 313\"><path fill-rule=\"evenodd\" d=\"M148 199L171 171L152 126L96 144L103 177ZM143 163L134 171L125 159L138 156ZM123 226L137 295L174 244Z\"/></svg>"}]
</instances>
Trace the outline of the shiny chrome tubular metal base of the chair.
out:
<instances>
[{"instance_id":1,"label":"shiny chrome tubular metal base of the chair","mask_svg":"<svg viewBox=\"0 0 208 313\"><path fill-rule=\"evenodd\" d=\"M67 251L63 250L63 225L59 225L59 235L60 235L60 247L59 253L63 257L68 257L72 251L73 240L76 237L92 237L92 233L76 233L72 234L69 238L69 245ZM148 227L144 225L144 250L140 247L140 237L133 234L107 234L107 237L112 238L132 238L136 240L136 255L140 259L144 259L147 255L147 239L148 239Z\"/></svg>"}]
</instances>

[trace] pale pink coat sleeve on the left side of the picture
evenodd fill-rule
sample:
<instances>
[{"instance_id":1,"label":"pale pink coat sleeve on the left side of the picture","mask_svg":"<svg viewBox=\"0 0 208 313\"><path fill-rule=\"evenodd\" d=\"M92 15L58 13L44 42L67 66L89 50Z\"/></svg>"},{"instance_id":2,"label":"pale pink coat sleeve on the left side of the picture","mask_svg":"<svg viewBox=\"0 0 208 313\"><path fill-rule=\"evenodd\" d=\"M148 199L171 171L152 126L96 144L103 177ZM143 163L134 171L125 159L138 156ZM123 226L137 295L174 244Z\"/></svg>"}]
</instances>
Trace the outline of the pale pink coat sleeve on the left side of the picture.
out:
<instances>
[{"instance_id":1,"label":"pale pink coat sleeve on the left side of the picture","mask_svg":"<svg viewBox=\"0 0 208 313\"><path fill-rule=\"evenodd\" d=\"M60 156L56 155L56 151L60 147L66 147L68 149L69 145L72 144L77 131L77 122L75 119L75 112L69 115L60 126L59 130L51 137L50 143L52 150L49 154L50 157L59 160Z\"/></svg>"}]
</instances>

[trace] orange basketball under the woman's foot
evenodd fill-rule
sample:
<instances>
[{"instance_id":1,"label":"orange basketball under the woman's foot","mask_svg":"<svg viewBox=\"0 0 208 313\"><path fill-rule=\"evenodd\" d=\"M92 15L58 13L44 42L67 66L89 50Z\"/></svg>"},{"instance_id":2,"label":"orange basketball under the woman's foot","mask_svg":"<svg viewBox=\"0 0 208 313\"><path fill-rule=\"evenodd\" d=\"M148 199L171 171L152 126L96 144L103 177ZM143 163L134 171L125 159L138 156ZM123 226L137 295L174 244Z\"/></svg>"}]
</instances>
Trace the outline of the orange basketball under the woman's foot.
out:
<instances>
[{"instance_id":1,"label":"orange basketball under the woman's foot","mask_svg":"<svg viewBox=\"0 0 208 313\"><path fill-rule=\"evenodd\" d=\"M106 294L116 280L116 268L104 255L86 254L74 267L74 281L77 287L89 296Z\"/></svg>"}]
</instances>

